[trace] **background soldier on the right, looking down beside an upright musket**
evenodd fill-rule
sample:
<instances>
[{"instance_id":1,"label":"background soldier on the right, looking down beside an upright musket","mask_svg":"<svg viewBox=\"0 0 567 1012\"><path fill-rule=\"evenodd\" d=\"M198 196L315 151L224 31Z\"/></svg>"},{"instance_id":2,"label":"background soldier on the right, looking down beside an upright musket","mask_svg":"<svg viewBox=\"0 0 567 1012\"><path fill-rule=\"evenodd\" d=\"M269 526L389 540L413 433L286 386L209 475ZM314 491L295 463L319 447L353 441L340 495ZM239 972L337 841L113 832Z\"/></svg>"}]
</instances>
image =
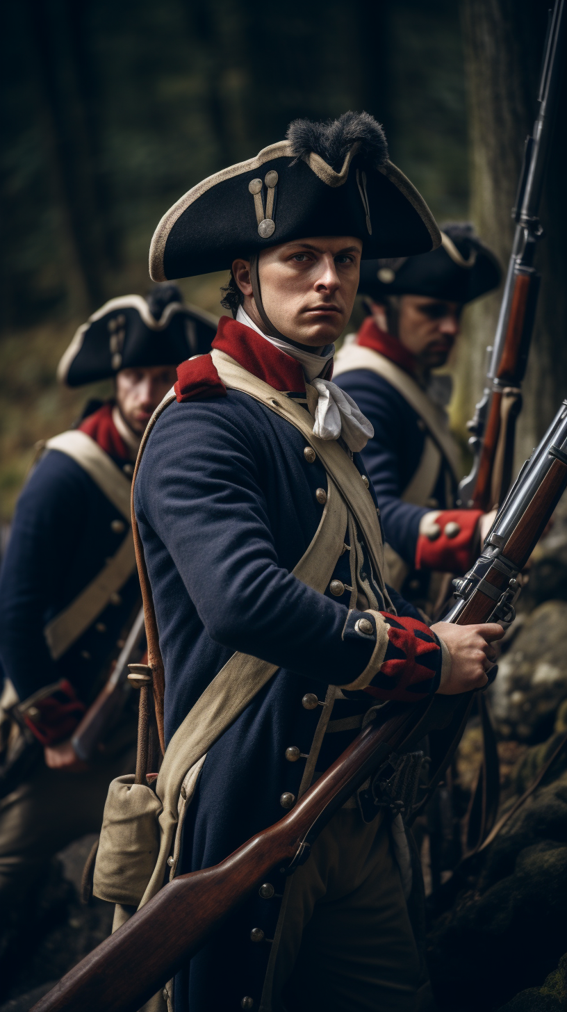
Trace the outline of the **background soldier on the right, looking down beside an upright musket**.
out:
<instances>
[{"instance_id":1,"label":"background soldier on the right, looking down beside an upright musket","mask_svg":"<svg viewBox=\"0 0 567 1012\"><path fill-rule=\"evenodd\" d=\"M369 316L335 362L335 380L372 422L362 452L381 509L389 575L429 614L478 555L493 514L456 509L460 449L448 428L446 364L463 308L500 282L493 253L466 223L441 228L420 256L367 260Z\"/></svg>"}]
</instances>

